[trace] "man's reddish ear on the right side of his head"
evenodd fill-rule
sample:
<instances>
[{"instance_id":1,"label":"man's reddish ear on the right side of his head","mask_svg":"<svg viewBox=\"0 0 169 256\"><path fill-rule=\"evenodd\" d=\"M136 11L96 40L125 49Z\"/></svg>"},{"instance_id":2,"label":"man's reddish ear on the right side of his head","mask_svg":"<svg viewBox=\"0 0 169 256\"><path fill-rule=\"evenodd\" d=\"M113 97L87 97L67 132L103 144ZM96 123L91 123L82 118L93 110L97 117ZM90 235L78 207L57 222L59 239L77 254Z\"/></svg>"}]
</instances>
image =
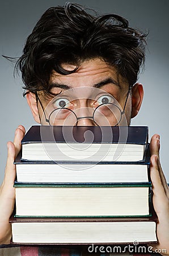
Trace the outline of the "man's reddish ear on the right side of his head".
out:
<instances>
[{"instance_id":1,"label":"man's reddish ear on the right side of his head","mask_svg":"<svg viewBox=\"0 0 169 256\"><path fill-rule=\"evenodd\" d=\"M138 114L143 99L143 86L137 82L132 88L132 118Z\"/></svg>"}]
</instances>

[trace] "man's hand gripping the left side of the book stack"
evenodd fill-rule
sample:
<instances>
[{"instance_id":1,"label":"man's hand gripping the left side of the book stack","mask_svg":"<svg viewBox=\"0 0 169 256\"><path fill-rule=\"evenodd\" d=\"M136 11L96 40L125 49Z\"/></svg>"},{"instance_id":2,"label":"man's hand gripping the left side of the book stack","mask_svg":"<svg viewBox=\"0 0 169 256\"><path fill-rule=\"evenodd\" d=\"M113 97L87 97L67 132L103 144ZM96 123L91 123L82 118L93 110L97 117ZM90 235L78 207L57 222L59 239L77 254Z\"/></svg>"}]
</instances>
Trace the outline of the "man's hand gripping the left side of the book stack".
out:
<instances>
[{"instance_id":1,"label":"man's hand gripping the left side of the book stack","mask_svg":"<svg viewBox=\"0 0 169 256\"><path fill-rule=\"evenodd\" d=\"M16 176L14 159L21 149L21 140L25 134L25 129L19 125L15 131L14 143L8 142L8 156L5 168L5 178L0 187L0 244L10 243L11 225L9 218L14 209L15 189L13 187Z\"/></svg>"}]
</instances>

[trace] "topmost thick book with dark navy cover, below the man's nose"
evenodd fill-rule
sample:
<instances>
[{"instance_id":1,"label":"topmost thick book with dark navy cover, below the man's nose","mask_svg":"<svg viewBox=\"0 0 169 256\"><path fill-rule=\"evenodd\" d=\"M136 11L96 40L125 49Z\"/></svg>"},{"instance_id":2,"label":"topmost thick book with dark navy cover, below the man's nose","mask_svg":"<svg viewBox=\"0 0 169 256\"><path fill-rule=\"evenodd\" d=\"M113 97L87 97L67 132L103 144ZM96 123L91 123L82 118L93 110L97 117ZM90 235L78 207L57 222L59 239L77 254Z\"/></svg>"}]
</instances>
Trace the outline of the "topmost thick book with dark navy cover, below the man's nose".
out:
<instances>
[{"instance_id":1,"label":"topmost thick book with dark navy cover, below the man's nose","mask_svg":"<svg viewBox=\"0 0 169 256\"><path fill-rule=\"evenodd\" d=\"M31 161L142 161L146 126L32 126L22 140L22 159Z\"/></svg>"}]
</instances>

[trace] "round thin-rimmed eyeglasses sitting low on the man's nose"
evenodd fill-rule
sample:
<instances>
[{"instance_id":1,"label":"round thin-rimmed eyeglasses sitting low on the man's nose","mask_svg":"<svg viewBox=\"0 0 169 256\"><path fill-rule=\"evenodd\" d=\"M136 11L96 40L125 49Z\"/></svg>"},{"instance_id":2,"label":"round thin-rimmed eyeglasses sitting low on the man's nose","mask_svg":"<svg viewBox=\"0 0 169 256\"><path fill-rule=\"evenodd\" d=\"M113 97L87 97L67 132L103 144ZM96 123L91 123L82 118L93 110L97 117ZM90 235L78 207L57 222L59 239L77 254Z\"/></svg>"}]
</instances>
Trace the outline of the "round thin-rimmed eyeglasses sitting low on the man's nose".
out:
<instances>
[{"instance_id":1,"label":"round thin-rimmed eyeglasses sitting low on the man's nose","mask_svg":"<svg viewBox=\"0 0 169 256\"><path fill-rule=\"evenodd\" d=\"M47 111L43 104L40 101L39 96L36 93L36 100L39 101L41 108L43 109L45 121L49 123L50 126L55 125L65 125L65 126L77 126L78 121L81 119L91 119L96 126L117 126L119 125L122 116L124 115L126 102L128 100L130 87L128 89L128 93L126 96L124 108L121 109L119 103L114 99L113 103L109 102L107 95L102 96L102 101L100 101L100 105L98 105L95 109L90 107L83 108L83 112L86 112L88 115L79 116L81 109L70 109L65 107L67 105L68 100L63 100L60 98L59 108L54 108L53 110L49 110L49 115L47 118ZM111 96L111 98L113 98ZM67 102L66 102L67 101ZM125 115L124 115L125 116Z\"/></svg>"}]
</instances>

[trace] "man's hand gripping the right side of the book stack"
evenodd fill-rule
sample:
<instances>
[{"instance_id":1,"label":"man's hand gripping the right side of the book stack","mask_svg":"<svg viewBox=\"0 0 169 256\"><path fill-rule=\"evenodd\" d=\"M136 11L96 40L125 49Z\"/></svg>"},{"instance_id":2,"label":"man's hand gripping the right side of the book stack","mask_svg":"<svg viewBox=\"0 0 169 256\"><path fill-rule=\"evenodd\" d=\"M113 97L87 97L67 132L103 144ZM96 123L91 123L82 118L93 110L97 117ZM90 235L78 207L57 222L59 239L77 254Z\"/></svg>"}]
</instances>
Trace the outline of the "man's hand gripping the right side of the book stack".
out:
<instances>
[{"instance_id":1,"label":"man's hand gripping the right side of the book stack","mask_svg":"<svg viewBox=\"0 0 169 256\"><path fill-rule=\"evenodd\" d=\"M153 205L158 216L158 243L151 246L153 246L153 251L156 250L162 255L169 255L169 188L160 166L159 148L159 135L155 134L150 142L150 176L153 183ZM162 249L166 249L167 252L164 253Z\"/></svg>"}]
</instances>

